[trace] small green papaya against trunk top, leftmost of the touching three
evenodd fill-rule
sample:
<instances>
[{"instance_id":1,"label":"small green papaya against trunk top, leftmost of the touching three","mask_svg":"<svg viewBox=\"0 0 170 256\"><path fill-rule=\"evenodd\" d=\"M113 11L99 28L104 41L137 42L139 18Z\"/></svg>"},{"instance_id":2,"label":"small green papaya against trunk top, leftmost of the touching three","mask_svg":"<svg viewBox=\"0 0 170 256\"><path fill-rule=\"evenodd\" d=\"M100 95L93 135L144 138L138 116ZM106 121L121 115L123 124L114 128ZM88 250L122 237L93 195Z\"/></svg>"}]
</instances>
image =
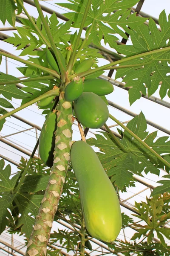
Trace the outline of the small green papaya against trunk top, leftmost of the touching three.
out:
<instances>
[{"instance_id":1,"label":"small green papaya against trunk top, leftmost of the touching three","mask_svg":"<svg viewBox=\"0 0 170 256\"><path fill-rule=\"evenodd\" d=\"M65 87L64 97L68 102L72 102L75 99L79 98L79 96L83 92L83 82L81 78L77 77L77 80L72 81Z\"/></svg>"}]
</instances>

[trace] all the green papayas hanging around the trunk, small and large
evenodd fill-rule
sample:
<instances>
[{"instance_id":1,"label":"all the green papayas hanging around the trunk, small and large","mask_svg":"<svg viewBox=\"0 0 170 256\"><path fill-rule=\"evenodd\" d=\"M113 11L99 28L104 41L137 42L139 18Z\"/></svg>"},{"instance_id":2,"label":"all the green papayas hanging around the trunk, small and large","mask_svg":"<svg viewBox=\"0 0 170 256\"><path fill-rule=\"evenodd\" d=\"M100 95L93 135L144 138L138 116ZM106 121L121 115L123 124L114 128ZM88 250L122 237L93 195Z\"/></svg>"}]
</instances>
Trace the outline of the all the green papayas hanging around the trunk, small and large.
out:
<instances>
[{"instance_id":1,"label":"all the green papayas hanging around the trunk, small and large","mask_svg":"<svg viewBox=\"0 0 170 256\"><path fill-rule=\"evenodd\" d=\"M51 63L49 50L47 58ZM75 73L86 71L93 64L92 59L85 60L77 66ZM57 62L54 61L51 67L59 72ZM82 125L87 128L100 128L109 116L108 107L104 101L106 99L103 96L112 92L113 86L108 81L96 78L83 81L76 77L65 87L65 100L74 102L76 117ZM46 98L39 102L39 106L48 105L51 100L53 100L52 97ZM39 141L40 157L49 167L53 165L56 129L57 114L53 111L48 113L45 119ZM114 241L120 232L122 217L119 199L111 180L103 169L96 152L87 143L74 142L70 157L79 184L82 212L88 232L96 239ZM89 247L91 244L86 241L85 245Z\"/></svg>"}]
</instances>

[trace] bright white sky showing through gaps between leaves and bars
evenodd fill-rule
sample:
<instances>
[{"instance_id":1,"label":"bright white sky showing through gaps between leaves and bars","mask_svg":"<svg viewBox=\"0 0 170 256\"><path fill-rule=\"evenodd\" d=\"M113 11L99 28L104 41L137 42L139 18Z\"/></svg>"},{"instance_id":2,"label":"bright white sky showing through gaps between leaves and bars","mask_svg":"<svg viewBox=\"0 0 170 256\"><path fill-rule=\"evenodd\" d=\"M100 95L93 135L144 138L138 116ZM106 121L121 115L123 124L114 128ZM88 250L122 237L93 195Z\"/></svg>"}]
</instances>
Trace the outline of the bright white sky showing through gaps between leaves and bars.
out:
<instances>
[{"instance_id":1,"label":"bright white sky showing through gaps between leaves and bars","mask_svg":"<svg viewBox=\"0 0 170 256\"><path fill-rule=\"evenodd\" d=\"M40 3L48 6L48 8L53 9L57 12L60 13L64 13L65 10L58 8L54 3L66 3L67 1L41 1ZM33 8L32 6L29 6L28 4L25 4L26 9L29 13L31 13L31 15L33 15L34 17L37 17L37 10L35 8ZM169 8L169 1L168 0L145 0L144 4L142 6L142 12L146 12L149 15L152 15L153 17L158 18L160 12L165 9L165 12L167 14L169 14L170 8ZM50 17L50 15L48 15L48 17ZM60 20L61 21L61 20ZM9 27L10 25L8 23L6 23L5 25L6 27ZM17 23L17 26L20 26L19 23ZM0 23L0 27L3 27L3 24ZM6 33L8 35L12 35L12 32L8 31L8 32L3 32ZM83 32L84 33L84 32ZM82 34L82 36L84 37L84 34ZM130 44L130 42L128 42L128 44ZM110 47L108 45L104 45L106 48L110 49ZM0 41L0 48L2 49L6 49L6 51L11 52L12 54L15 55L19 55L20 54L20 50L16 51L15 47L11 46L10 44L6 43L6 42L2 42ZM27 57L22 57L24 59L26 59ZM104 65L107 64L108 61L107 60L103 60L100 59L99 60L99 66L100 65ZM10 60L8 59L8 74L11 74L13 76L16 77L20 77L23 76L17 69L16 67L22 66L22 64L20 64L17 61L14 60ZM6 73L6 68L5 68L5 60L3 58L2 64L0 65L0 71L3 73ZM107 73L105 73L105 75L107 75ZM114 78L114 76L113 76ZM150 121L153 121L155 123L157 123L158 125L163 126L164 128L170 129L170 123L169 123L169 116L170 116L170 110L168 108L165 108L161 105L158 105L154 102L151 102L147 99L141 98L139 100L137 100L135 103L133 103L133 105L130 106L129 101L128 101L128 92L126 90L123 90L121 88L118 88L116 86L114 86L114 92L111 93L110 95L107 96L107 99L111 100L112 102L121 105L122 107L133 111L134 113L139 114L140 111L142 111L146 117L146 119L149 119ZM154 94L154 96L159 97L159 91L157 90L156 93ZM1 96L0 96L1 97ZM160 97L159 97L160 98ZM165 101L170 102L170 99L166 96L164 98ZM12 104L14 105L14 108L17 108L20 105L20 100L17 99L13 99L12 98ZM119 119L122 122L125 122L127 120L132 119L131 116L128 116L127 114L109 106L109 112L115 116L117 119ZM41 115L41 110L38 110L37 106L34 104L31 107L28 107L25 110L22 110L18 113L16 113L18 116L23 117L24 119L28 119L30 122L33 122L34 124L42 127L43 122L45 120L45 117ZM108 120L107 122L108 125L113 125L114 122L111 120ZM4 125L3 130L0 132L0 136L5 136L8 134L12 134L25 129L31 128L29 125L26 125L23 122L18 121L17 119L14 119L13 117L11 118L7 118L7 121ZM120 127L119 127L120 128ZM73 133L73 140L80 140L80 135L79 135L79 131L76 125L73 126L74 129L74 133ZM113 128L113 131L116 131L116 127ZM150 125L147 126L147 131L149 131L149 133L156 131L155 128L151 127ZM87 138L89 137L95 137L94 135L95 130L91 129L90 132L88 133ZM37 134L40 134L40 131L37 131ZM167 134L158 131L158 137L161 136L167 136ZM24 133L20 133L20 134L16 134L13 136L8 137L8 139L10 139L13 143L17 143L19 144L22 148L26 148L27 151L32 151L32 149L34 148L34 145L36 143L36 133L35 133L35 129L32 129L30 131L25 131ZM8 145L0 142L0 154L3 154L4 156L13 159L16 162L20 162L20 158L21 155L23 157L26 157L28 159L28 156L26 154L22 154L20 151L15 150L12 147L9 147ZM38 152L37 152L38 153ZM8 162L6 161L6 165L8 164ZM11 169L12 172L15 173L17 171L16 166L11 164ZM153 175L153 174L148 174L147 176L145 175L147 182L151 183L152 185L156 185L156 181L161 179L161 176L165 175L165 173L162 171L160 177ZM142 184L137 183L137 186L133 189L127 189L127 193L123 193L121 194L121 198L123 200L125 200L126 198L129 198L130 196L132 196L134 193L137 193L139 191L141 191L142 189L145 189L146 187ZM149 196L150 195L150 189L145 190L144 192L142 192L141 194L135 196L135 198L131 198L129 199L127 202L129 204L134 204L134 200L136 201L145 201L146 195ZM122 207L122 211L125 212L127 215L130 215L130 211L123 208ZM58 227L58 225L54 225L54 229L56 229ZM129 228L127 230L125 230L125 235L128 237L132 236L133 231ZM2 236L7 236L6 234L3 234L0 236L0 238ZM4 237L3 237L4 238ZM123 239L123 232L121 231L119 238ZM22 241L22 239L21 239ZM24 249L23 249L24 250ZM1 253L1 252L0 252ZM3 253L2 253L3 255ZM4 255L6 255L4 253Z\"/></svg>"}]
</instances>

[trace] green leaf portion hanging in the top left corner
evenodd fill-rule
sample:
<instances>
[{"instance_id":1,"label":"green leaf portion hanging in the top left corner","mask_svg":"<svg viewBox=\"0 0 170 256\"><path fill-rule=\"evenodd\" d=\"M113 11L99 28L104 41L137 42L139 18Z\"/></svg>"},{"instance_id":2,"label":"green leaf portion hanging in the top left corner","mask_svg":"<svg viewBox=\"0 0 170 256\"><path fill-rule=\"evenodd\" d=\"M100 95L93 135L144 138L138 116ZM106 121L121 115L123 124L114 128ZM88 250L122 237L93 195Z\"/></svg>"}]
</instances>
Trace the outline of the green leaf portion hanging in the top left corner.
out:
<instances>
[{"instance_id":1,"label":"green leaf portion hanging in the top left corner","mask_svg":"<svg viewBox=\"0 0 170 256\"><path fill-rule=\"evenodd\" d=\"M3 25L5 25L6 20L10 23L11 26L15 26L15 6L14 0L0 0L0 20Z\"/></svg>"}]
</instances>

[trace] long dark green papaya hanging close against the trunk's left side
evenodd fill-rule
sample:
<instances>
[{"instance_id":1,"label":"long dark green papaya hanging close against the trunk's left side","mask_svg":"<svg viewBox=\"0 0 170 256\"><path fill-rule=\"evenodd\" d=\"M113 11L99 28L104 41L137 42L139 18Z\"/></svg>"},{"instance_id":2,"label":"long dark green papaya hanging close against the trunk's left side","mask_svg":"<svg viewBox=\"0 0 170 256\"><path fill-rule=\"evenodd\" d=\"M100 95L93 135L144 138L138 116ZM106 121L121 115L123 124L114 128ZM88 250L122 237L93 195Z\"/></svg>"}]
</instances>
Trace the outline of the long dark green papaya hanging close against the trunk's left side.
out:
<instances>
[{"instance_id":1,"label":"long dark green papaya hanging close against the trunk's left side","mask_svg":"<svg viewBox=\"0 0 170 256\"><path fill-rule=\"evenodd\" d=\"M39 140L40 158L46 166L53 166L53 152L55 147L55 131L57 129L57 114L56 112L48 113L45 122L42 126Z\"/></svg>"}]
</instances>

